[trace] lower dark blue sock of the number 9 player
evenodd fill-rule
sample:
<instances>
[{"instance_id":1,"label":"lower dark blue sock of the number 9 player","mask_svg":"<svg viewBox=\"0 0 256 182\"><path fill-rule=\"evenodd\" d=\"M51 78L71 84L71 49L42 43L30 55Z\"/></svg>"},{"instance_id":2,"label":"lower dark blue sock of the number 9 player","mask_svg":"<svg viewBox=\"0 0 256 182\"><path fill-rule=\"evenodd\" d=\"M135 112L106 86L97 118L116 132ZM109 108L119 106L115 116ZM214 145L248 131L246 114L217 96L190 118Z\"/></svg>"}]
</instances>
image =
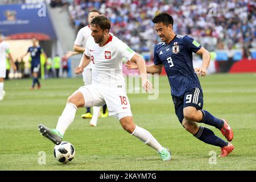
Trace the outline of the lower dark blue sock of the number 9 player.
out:
<instances>
[{"instance_id":1,"label":"lower dark blue sock of the number 9 player","mask_svg":"<svg viewBox=\"0 0 256 182\"><path fill-rule=\"evenodd\" d=\"M216 135L214 135L213 131L200 126L197 133L194 135L197 139L200 139L201 141L212 144L213 146L219 146L219 147L225 147L228 145L228 142L225 142L221 138L218 138Z\"/></svg>"}]
</instances>

